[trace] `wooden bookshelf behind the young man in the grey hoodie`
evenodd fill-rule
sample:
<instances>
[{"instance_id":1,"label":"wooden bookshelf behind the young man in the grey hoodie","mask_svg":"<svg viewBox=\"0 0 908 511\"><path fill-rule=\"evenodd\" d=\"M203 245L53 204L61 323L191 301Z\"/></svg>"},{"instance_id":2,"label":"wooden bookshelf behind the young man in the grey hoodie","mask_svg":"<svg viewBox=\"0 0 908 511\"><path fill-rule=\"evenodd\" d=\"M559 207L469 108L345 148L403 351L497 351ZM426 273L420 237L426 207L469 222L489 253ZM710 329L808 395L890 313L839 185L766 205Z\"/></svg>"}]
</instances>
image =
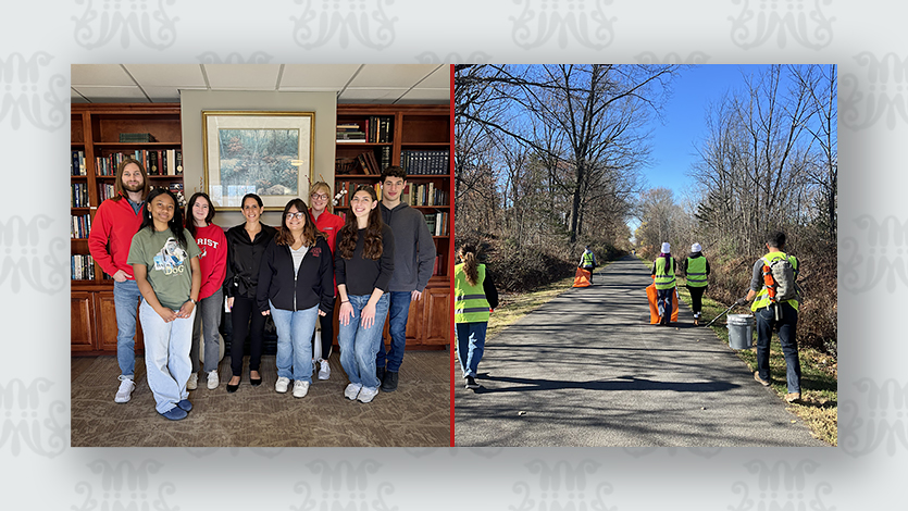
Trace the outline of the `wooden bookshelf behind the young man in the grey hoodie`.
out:
<instances>
[{"instance_id":1,"label":"wooden bookshelf behind the young man in the grey hoodie","mask_svg":"<svg viewBox=\"0 0 908 511\"><path fill-rule=\"evenodd\" d=\"M419 174L410 174L408 171L407 184L414 187L428 187L439 192L440 201L432 201L421 205L413 205L423 214L434 214L440 219L444 213L440 234L433 236L436 253L440 256L438 272L428 281L425 292L421 300L410 304L410 315L407 323L407 348L443 349L450 344L450 262L453 259L453 246L451 233L453 217L451 208L452 186L450 175L451 154L451 119L448 105L395 105L395 104L338 104L337 124L357 124L362 129L366 128L369 121L375 117L384 117L389 121L387 137L382 141L372 140L366 142L338 141L335 146L336 171L347 170L349 173L336 173L334 176L334 194L337 194L348 184L347 188L352 192L358 184L377 185L378 197L381 198L381 177L377 174L364 174L362 164L359 164L359 157L369 154L377 162L377 169L372 172L381 173L383 152L387 154L386 160L390 165L403 166L408 151L430 152L437 155L447 155L448 163L444 165L439 161L434 162L432 173L430 166L423 165ZM371 123L369 123L371 124ZM371 137L374 138L374 137ZM357 162L350 164L350 162ZM352 166L352 169L350 169ZM346 167L346 169L345 169ZM318 176L316 176L318 177ZM349 195L348 195L349 197ZM347 198L341 204L348 203ZM401 199L410 203L409 187ZM436 203L437 202L437 203ZM335 213L347 214L349 207L335 205ZM387 337L387 335L386 335Z\"/></svg>"}]
</instances>

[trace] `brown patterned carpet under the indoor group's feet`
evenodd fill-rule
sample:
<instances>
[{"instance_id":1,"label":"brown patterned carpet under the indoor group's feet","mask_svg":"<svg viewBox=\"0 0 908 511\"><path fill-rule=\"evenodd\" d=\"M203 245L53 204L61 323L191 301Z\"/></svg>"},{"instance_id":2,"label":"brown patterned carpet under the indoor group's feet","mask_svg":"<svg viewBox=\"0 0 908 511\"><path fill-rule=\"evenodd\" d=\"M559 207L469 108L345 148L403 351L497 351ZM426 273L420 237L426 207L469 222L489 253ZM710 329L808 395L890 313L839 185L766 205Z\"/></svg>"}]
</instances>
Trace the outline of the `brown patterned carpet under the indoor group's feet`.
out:
<instances>
[{"instance_id":1,"label":"brown patterned carpet under the indoor group's feet","mask_svg":"<svg viewBox=\"0 0 908 511\"><path fill-rule=\"evenodd\" d=\"M394 392L380 392L363 404L344 397L349 383L337 353L331 379L313 378L309 395L296 399L274 391L274 356L262 357L262 385L249 385L248 358L242 382L227 394L229 357L221 361L221 386L209 390L204 377L189 391L194 410L176 422L154 410L141 357L136 389L127 403L115 403L116 358L72 359L73 447L447 447L450 441L450 361L448 351L408 351ZM290 386L293 390L293 384Z\"/></svg>"}]
</instances>

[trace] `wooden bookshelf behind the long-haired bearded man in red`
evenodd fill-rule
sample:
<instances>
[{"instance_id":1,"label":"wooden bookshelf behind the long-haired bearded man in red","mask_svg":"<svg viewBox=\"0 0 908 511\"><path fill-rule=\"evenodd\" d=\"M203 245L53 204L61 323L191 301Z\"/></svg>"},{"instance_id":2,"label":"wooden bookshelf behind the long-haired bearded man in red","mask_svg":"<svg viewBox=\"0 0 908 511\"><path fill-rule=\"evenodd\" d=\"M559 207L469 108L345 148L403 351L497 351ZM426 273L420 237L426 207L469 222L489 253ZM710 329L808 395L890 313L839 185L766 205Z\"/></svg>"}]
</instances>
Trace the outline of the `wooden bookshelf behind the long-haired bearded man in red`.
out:
<instances>
[{"instance_id":1,"label":"wooden bookshelf behind the long-haired bearded man in red","mask_svg":"<svg viewBox=\"0 0 908 511\"><path fill-rule=\"evenodd\" d=\"M73 104L70 113L71 149L83 151L85 175L71 175L71 185L87 190L88 203L73 207L71 216L88 214L94 223L104 185L113 185L115 176L99 175L97 158L135 151L181 150L183 142L178 103L87 103ZM149 133L156 141L121 142L121 133ZM72 172L71 172L72 174ZM154 187L182 184L182 175L149 176ZM88 256L87 236L71 239L71 256ZM116 352L116 314L113 281L94 264L94 278L71 283L73 354L112 354ZM137 328L136 351L142 352L141 326Z\"/></svg>"}]
</instances>

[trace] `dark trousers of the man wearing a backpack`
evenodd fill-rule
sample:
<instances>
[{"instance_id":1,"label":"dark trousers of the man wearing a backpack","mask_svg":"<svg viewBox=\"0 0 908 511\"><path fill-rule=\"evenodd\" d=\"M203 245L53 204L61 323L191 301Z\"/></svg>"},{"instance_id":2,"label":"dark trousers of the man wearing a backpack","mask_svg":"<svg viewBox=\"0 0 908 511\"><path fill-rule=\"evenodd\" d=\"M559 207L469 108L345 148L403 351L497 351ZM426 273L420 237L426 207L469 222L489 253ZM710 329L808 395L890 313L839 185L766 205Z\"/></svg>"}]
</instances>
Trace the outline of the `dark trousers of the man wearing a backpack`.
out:
<instances>
[{"instance_id":1,"label":"dark trousers of the man wearing a backpack","mask_svg":"<svg viewBox=\"0 0 908 511\"><path fill-rule=\"evenodd\" d=\"M779 344L785 356L785 378L789 392L800 392L800 360L798 359L798 342L795 336L798 325L798 311L787 303L782 303L782 319L775 321L772 307L757 311L757 372L760 377L769 382L769 341L772 331L779 328Z\"/></svg>"}]
</instances>

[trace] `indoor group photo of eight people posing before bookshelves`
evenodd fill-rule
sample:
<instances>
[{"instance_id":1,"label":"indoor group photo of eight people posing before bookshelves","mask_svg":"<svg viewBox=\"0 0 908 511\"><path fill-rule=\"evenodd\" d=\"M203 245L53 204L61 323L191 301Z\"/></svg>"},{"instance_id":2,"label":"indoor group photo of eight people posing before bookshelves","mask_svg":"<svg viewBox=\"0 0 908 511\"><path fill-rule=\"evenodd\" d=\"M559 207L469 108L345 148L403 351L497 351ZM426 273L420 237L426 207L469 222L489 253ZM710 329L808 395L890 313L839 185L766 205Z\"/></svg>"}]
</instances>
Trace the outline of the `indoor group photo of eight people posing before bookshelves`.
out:
<instances>
[{"instance_id":1,"label":"indoor group photo of eight people posing before bookshelves","mask_svg":"<svg viewBox=\"0 0 908 511\"><path fill-rule=\"evenodd\" d=\"M72 66L73 447L447 447L451 71Z\"/></svg>"}]
</instances>

